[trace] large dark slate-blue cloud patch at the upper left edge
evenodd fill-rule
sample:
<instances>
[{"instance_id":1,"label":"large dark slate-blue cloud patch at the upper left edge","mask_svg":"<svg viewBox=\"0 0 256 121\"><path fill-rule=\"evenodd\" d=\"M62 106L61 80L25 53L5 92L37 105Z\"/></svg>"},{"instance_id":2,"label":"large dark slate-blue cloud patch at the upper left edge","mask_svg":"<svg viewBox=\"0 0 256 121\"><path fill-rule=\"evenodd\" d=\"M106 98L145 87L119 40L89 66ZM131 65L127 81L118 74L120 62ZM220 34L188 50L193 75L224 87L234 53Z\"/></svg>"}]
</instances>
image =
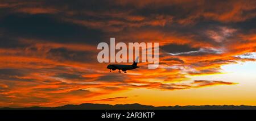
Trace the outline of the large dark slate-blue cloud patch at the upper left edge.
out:
<instances>
[{"instance_id":1,"label":"large dark slate-blue cloud patch at the upper left edge","mask_svg":"<svg viewBox=\"0 0 256 121\"><path fill-rule=\"evenodd\" d=\"M23 37L60 43L89 43L100 41L101 31L62 22L47 14L11 14L3 17L0 28L7 37Z\"/></svg>"}]
</instances>

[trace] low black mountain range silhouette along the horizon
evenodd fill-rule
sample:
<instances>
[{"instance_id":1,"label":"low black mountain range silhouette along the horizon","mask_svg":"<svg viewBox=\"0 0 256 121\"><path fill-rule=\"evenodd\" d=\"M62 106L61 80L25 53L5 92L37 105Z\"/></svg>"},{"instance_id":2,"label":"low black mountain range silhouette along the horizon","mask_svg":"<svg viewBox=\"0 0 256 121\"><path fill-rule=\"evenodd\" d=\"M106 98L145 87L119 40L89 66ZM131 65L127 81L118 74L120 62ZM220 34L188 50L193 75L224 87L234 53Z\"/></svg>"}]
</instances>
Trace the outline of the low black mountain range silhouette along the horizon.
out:
<instances>
[{"instance_id":1,"label":"low black mountain range silhouette along the horizon","mask_svg":"<svg viewBox=\"0 0 256 121\"><path fill-rule=\"evenodd\" d=\"M108 105L83 103L81 105L64 105L59 107L3 107L1 110L256 110L256 106L205 105L205 106L147 106L138 103L125 105Z\"/></svg>"}]
</instances>

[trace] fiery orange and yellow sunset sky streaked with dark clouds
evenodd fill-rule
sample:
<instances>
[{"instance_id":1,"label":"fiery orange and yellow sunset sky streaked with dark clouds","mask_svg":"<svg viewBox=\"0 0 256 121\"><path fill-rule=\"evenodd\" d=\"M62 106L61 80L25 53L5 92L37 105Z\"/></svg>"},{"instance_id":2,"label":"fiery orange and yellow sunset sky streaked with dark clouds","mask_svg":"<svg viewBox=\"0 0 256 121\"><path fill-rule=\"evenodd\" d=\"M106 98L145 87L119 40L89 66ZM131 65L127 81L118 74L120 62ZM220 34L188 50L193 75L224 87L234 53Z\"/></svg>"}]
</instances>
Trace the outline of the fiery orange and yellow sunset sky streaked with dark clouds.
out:
<instances>
[{"instance_id":1,"label":"fiery orange and yellow sunset sky streaked with dark clouds","mask_svg":"<svg viewBox=\"0 0 256 121\"><path fill-rule=\"evenodd\" d=\"M0 107L256 106L256 1L0 1ZM98 43L159 43L112 73Z\"/></svg>"}]
</instances>

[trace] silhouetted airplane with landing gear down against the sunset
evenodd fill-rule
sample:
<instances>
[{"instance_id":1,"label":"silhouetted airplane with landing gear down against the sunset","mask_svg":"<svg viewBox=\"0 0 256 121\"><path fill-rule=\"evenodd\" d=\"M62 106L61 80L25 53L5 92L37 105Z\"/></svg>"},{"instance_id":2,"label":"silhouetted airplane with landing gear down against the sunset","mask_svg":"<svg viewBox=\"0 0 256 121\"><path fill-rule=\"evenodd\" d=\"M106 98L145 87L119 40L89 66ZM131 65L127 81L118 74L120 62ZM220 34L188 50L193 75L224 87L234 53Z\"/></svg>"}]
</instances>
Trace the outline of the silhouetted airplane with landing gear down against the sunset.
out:
<instances>
[{"instance_id":1,"label":"silhouetted airplane with landing gear down against the sunset","mask_svg":"<svg viewBox=\"0 0 256 121\"><path fill-rule=\"evenodd\" d=\"M137 57L137 59L136 59L136 60L133 62L133 64L131 64L131 65L109 64L109 65L107 66L107 68L110 70L110 72L111 72L111 70L116 70L116 69L118 69L118 70L119 70L119 71L118 71L119 73L121 73L120 70L122 70L123 72L126 73L126 70L131 70L131 69L139 68L139 66L137 66L138 59L139 59L139 57Z\"/></svg>"}]
</instances>

